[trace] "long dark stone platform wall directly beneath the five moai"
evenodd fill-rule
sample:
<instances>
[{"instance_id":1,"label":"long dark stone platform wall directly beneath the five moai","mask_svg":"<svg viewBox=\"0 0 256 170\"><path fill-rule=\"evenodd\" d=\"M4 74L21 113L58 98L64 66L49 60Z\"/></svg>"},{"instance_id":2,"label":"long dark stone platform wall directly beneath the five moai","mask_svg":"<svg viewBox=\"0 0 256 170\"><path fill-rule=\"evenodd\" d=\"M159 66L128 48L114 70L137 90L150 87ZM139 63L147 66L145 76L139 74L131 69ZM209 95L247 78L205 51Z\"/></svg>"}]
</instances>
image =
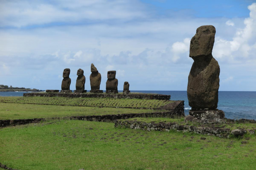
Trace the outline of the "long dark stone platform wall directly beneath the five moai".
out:
<instances>
[{"instance_id":1,"label":"long dark stone platform wall directly beneath the five moai","mask_svg":"<svg viewBox=\"0 0 256 170\"><path fill-rule=\"evenodd\" d=\"M106 94L106 93L23 93L24 97L70 97L70 98L114 98L114 99L156 99L170 100L171 95L163 94Z\"/></svg>"}]
</instances>

